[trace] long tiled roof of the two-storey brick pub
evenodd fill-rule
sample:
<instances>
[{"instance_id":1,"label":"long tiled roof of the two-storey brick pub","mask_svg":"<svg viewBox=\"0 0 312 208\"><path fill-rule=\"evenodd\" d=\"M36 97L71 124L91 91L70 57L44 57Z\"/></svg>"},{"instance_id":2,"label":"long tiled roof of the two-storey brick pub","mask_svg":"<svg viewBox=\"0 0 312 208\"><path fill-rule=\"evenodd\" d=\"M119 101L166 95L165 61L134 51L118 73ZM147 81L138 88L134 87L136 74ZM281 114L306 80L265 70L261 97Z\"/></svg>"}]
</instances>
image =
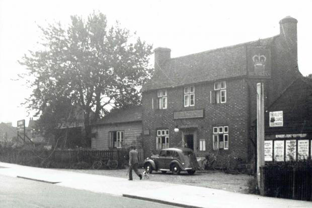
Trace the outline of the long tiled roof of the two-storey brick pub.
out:
<instances>
[{"instance_id":1,"label":"long tiled roof of the two-storey brick pub","mask_svg":"<svg viewBox=\"0 0 312 208\"><path fill-rule=\"evenodd\" d=\"M275 37L170 58L155 70L142 91L247 75L247 46L270 46Z\"/></svg>"}]
</instances>

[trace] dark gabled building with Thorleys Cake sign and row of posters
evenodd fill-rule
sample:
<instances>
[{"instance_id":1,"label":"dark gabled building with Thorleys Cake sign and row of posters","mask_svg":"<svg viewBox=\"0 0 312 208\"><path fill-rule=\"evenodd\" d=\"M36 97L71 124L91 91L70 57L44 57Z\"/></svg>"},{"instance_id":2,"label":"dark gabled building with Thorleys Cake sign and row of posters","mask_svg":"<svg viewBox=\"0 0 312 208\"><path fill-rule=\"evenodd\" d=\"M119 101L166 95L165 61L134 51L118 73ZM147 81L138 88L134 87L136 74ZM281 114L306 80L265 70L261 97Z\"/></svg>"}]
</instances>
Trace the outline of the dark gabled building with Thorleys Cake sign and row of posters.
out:
<instances>
[{"instance_id":1,"label":"dark gabled building with Thorleys Cake sign and row of posters","mask_svg":"<svg viewBox=\"0 0 312 208\"><path fill-rule=\"evenodd\" d=\"M299 77L265 112L265 161L307 159L311 143L312 79Z\"/></svg>"}]
</instances>

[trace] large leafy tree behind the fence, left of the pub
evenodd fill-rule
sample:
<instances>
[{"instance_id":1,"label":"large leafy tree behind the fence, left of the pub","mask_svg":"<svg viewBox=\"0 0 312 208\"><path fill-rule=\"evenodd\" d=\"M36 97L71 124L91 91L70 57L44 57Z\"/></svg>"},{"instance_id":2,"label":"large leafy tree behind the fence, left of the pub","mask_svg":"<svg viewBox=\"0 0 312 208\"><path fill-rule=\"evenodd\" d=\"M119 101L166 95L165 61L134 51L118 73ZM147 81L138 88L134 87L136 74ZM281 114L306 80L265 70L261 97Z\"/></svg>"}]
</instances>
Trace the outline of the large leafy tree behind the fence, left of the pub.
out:
<instances>
[{"instance_id":1,"label":"large leafy tree behind the fence, left of the pub","mask_svg":"<svg viewBox=\"0 0 312 208\"><path fill-rule=\"evenodd\" d=\"M107 105L140 103L138 89L152 72L148 63L152 46L135 39L118 22L108 28L102 13L94 12L87 21L71 16L67 29L60 23L39 28L42 49L29 51L20 61L28 72L21 77L33 89L27 107L40 114L60 100L79 105L90 146L90 124L107 112Z\"/></svg>"}]
</instances>

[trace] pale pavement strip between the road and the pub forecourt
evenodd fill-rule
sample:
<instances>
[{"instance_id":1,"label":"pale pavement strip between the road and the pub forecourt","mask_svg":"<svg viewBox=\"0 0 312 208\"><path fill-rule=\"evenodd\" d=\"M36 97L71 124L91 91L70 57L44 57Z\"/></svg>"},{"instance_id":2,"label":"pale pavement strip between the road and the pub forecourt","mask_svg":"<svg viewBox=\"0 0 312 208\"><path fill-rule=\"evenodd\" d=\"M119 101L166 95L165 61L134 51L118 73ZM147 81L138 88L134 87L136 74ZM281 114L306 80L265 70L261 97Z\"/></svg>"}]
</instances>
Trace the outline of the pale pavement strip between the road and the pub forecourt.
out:
<instances>
[{"instance_id":1,"label":"pale pavement strip between the road and the pub forecourt","mask_svg":"<svg viewBox=\"0 0 312 208\"><path fill-rule=\"evenodd\" d=\"M63 170L35 168L0 162L0 174L57 186L88 190L181 207L312 207L312 202L234 193L212 188L150 181L133 181Z\"/></svg>"}]
</instances>

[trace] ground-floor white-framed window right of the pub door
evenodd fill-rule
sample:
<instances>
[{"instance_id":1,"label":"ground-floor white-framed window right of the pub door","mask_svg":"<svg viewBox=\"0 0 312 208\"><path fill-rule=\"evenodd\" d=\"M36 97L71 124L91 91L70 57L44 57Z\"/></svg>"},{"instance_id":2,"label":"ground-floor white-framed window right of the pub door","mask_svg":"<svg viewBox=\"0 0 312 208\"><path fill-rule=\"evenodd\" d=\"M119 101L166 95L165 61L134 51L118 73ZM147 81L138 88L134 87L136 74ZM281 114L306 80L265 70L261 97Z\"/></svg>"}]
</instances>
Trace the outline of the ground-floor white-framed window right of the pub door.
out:
<instances>
[{"instance_id":1,"label":"ground-floor white-framed window right of the pub door","mask_svg":"<svg viewBox=\"0 0 312 208\"><path fill-rule=\"evenodd\" d=\"M228 126L213 127L213 150L228 150Z\"/></svg>"}]
</instances>

